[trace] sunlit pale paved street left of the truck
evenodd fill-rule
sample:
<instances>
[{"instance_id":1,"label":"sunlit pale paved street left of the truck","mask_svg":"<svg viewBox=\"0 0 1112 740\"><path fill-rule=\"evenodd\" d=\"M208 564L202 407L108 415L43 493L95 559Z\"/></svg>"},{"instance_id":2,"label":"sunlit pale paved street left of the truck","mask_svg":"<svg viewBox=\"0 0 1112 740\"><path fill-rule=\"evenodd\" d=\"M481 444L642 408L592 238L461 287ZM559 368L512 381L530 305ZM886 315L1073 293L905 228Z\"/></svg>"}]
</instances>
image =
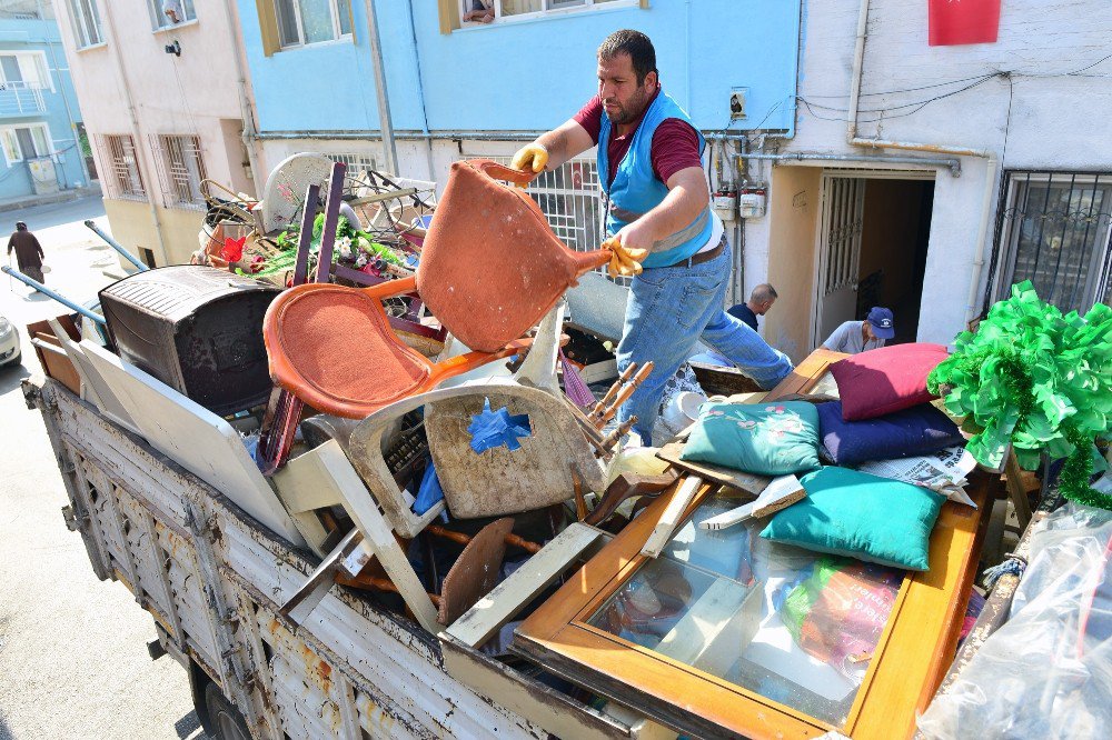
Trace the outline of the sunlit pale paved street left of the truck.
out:
<instances>
[{"instance_id":1,"label":"sunlit pale paved street left of the truck","mask_svg":"<svg viewBox=\"0 0 1112 740\"><path fill-rule=\"evenodd\" d=\"M108 229L100 199L87 198L0 213L0 232L26 221L47 253L47 284L83 302L117 263L81 224L88 218ZM80 536L66 529L42 419L23 404L20 381L39 372L24 326L67 310L2 281L0 314L19 328L23 358L0 369L0 740L203 738L185 671L147 654L150 617L121 583L96 579Z\"/></svg>"}]
</instances>

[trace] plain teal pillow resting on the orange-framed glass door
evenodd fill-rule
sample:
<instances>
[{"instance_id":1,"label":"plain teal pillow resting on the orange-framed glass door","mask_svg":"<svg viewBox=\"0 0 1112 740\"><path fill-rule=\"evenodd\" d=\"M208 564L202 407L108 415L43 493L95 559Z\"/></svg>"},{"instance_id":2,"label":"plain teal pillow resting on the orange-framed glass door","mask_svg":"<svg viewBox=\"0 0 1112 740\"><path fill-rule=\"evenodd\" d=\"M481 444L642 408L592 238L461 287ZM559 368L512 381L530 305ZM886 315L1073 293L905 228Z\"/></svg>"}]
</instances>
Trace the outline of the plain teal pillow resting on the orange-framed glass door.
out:
<instances>
[{"instance_id":1,"label":"plain teal pillow resting on the orange-framed glass door","mask_svg":"<svg viewBox=\"0 0 1112 740\"><path fill-rule=\"evenodd\" d=\"M930 568L942 494L847 468L823 468L800 482L807 497L775 513L761 537L882 566Z\"/></svg>"}]
</instances>

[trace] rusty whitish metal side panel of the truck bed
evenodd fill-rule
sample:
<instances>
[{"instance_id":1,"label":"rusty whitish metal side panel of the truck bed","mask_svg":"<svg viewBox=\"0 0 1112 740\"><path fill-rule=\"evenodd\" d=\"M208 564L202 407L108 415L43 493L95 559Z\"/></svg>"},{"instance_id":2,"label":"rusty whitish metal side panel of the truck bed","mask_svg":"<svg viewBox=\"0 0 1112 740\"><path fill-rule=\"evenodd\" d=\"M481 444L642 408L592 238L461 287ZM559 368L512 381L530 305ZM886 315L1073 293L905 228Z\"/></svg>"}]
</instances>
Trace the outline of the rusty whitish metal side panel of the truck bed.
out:
<instances>
[{"instance_id":1,"label":"rusty whitish metal side panel of the truck bed","mask_svg":"<svg viewBox=\"0 0 1112 740\"><path fill-rule=\"evenodd\" d=\"M26 382L24 394L63 473L68 526L97 576L122 581L151 613L190 671L199 713L212 681L258 738L548 736L448 676L435 636L355 591L331 589L295 631L278 606L316 558L60 383Z\"/></svg>"}]
</instances>

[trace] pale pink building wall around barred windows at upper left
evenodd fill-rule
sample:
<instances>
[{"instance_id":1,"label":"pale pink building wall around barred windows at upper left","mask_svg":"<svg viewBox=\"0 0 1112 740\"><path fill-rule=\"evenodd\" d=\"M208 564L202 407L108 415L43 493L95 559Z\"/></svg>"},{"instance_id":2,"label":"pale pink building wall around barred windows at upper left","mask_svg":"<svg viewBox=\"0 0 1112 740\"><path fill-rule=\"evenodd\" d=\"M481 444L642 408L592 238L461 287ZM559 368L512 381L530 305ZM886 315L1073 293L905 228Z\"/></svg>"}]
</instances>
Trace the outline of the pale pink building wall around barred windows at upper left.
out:
<instances>
[{"instance_id":1,"label":"pale pink building wall around barred windows at upper left","mask_svg":"<svg viewBox=\"0 0 1112 740\"><path fill-rule=\"evenodd\" d=\"M66 58L92 139L98 171L111 171L110 162L105 161L97 146L101 137L127 134L136 138L147 197L158 212L166 253L159 249L149 203L106 199L109 223L121 244L129 249L146 247L152 250L159 264L186 262L190 252L197 249L197 230L202 214L196 210L165 208L167 200L151 137L198 137L209 179L237 192L256 193L252 173L246 166L248 157L239 138L242 128L236 72L239 28L228 27L224 0L195 0L196 21L159 31L151 30L143 0L111 0L98 4L106 42L79 50L75 48L69 3L56 3ZM180 57L165 51L175 40L181 44ZM123 77L117 56L122 62ZM129 88L138 132L128 110ZM265 182L266 173L259 179ZM108 192L106 189L106 194Z\"/></svg>"}]
</instances>

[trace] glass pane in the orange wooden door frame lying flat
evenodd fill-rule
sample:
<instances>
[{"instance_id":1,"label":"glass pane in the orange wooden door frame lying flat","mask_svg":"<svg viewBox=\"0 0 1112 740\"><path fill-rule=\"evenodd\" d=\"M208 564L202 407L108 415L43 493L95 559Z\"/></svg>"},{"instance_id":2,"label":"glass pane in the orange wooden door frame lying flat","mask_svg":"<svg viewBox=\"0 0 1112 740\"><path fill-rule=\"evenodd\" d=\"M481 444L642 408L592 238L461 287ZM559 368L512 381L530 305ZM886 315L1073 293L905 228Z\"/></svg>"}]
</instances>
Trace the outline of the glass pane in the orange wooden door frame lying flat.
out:
<instances>
[{"instance_id":1,"label":"glass pane in the orange wooden door frame lying flat","mask_svg":"<svg viewBox=\"0 0 1112 740\"><path fill-rule=\"evenodd\" d=\"M587 622L841 727L903 572L774 544L763 522L696 527L743 501L706 501Z\"/></svg>"}]
</instances>

